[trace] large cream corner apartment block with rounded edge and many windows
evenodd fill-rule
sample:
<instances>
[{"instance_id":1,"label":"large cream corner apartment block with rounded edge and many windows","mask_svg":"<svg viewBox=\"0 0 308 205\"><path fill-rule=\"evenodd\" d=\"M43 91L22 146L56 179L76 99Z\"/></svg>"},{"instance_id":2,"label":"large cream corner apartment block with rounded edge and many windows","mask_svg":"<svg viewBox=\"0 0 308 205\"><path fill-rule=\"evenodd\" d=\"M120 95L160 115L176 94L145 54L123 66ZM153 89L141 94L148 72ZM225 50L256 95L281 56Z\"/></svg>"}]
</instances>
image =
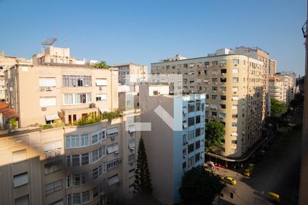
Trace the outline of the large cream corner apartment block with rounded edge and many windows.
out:
<instances>
[{"instance_id":1,"label":"large cream corner apartment block with rounded edge and many windows","mask_svg":"<svg viewBox=\"0 0 308 205\"><path fill-rule=\"evenodd\" d=\"M151 74L182 74L183 92L207 94L206 122L216 119L226 131L222 155L228 157L217 157L237 161L261 137L268 85L264 61L229 53L153 63Z\"/></svg>"}]
</instances>

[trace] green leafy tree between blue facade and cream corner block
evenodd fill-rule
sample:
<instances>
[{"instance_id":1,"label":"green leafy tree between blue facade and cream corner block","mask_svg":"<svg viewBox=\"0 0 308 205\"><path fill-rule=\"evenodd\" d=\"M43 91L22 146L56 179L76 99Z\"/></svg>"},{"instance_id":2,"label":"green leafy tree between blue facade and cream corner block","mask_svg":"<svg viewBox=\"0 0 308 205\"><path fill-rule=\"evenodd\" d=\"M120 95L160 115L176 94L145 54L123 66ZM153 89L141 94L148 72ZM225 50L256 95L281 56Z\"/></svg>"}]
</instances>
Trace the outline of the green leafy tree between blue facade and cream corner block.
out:
<instances>
[{"instance_id":1,"label":"green leafy tree between blue facade and cream corner block","mask_svg":"<svg viewBox=\"0 0 308 205\"><path fill-rule=\"evenodd\" d=\"M205 151L220 154L224 133L224 125L217 120L205 124Z\"/></svg>"}]
</instances>

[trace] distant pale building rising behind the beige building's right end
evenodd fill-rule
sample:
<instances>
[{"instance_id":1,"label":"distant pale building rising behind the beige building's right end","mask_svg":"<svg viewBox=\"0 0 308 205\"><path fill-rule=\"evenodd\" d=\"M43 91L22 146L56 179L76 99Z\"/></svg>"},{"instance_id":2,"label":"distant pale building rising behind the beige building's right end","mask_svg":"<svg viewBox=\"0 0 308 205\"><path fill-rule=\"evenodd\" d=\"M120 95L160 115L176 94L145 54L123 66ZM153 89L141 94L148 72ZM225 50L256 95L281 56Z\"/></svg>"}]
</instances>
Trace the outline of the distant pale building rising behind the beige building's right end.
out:
<instances>
[{"instance_id":1,"label":"distant pale building rising behind the beige building's right end","mask_svg":"<svg viewBox=\"0 0 308 205\"><path fill-rule=\"evenodd\" d=\"M129 81L133 79L129 79L130 77L135 77L138 79L147 79L148 76L148 66L140 66L137 64L117 64L113 67L118 68L118 83L120 85L128 85Z\"/></svg>"}]
</instances>

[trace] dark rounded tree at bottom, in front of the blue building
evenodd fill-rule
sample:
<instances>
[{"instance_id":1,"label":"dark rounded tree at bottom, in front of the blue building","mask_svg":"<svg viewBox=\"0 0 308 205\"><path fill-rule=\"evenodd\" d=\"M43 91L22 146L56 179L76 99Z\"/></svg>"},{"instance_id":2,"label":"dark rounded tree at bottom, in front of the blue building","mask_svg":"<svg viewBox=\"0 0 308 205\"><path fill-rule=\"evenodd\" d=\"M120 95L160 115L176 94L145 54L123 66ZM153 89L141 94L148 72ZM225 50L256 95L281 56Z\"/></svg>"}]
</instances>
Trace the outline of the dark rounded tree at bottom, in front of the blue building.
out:
<instances>
[{"instance_id":1,"label":"dark rounded tree at bottom, in front of the blue building","mask_svg":"<svg viewBox=\"0 0 308 205\"><path fill-rule=\"evenodd\" d=\"M179 193L183 204L211 204L224 187L219 176L206 171L203 166L198 166L185 173Z\"/></svg>"}]
</instances>

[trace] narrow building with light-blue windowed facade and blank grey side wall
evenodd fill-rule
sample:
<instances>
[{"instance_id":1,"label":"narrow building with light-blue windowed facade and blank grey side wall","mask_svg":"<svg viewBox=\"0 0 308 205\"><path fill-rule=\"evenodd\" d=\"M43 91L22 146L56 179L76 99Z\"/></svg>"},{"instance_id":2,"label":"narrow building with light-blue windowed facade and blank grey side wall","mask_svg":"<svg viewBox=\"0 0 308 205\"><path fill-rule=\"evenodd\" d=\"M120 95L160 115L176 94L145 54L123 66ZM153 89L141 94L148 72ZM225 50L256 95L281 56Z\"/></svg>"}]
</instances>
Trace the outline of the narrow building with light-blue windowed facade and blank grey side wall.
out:
<instances>
[{"instance_id":1,"label":"narrow building with light-blue windowed facade and blank grey side wall","mask_svg":"<svg viewBox=\"0 0 308 205\"><path fill-rule=\"evenodd\" d=\"M205 94L169 95L168 85L139 85L139 104L141 122L151 123L142 139L153 195L162 204L179 203L183 174L204 164Z\"/></svg>"}]
</instances>

